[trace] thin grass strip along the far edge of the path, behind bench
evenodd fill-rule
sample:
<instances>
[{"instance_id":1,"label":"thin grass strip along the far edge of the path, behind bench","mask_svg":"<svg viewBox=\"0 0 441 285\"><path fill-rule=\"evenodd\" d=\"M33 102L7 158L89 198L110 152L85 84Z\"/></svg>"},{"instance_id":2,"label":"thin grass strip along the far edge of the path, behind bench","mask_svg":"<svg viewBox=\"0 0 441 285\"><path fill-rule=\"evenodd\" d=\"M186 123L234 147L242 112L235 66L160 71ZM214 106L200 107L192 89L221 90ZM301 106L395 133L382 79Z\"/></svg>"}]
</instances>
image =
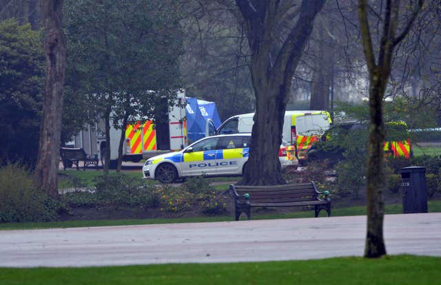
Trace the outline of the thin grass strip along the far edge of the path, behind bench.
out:
<instances>
[{"instance_id":1,"label":"thin grass strip along the far edge of the path, behind bench","mask_svg":"<svg viewBox=\"0 0 441 285\"><path fill-rule=\"evenodd\" d=\"M429 213L441 212L441 200L431 200L428 202ZM386 214L402 213L401 204L390 204L384 207ZM340 209L332 209L331 215L333 217L347 216L347 215L366 215L366 207L348 207ZM325 217L326 212L321 211L320 217ZM252 214L253 220L268 220L268 219L286 219L286 218L314 218L314 209L311 211L297 211L292 213L273 213L259 215ZM246 219L246 215L240 216L241 220ZM72 227L88 227L88 226L126 226L132 224L171 224L183 222L223 222L234 220L232 215L215 215L212 217L203 216L198 218L170 218L170 219L147 219L147 220L81 220L81 221L66 221L66 222L23 222L23 223L5 223L0 224L0 230L14 230L14 229L52 229L52 228L72 228ZM1 282L0 282L1 285Z\"/></svg>"}]
</instances>

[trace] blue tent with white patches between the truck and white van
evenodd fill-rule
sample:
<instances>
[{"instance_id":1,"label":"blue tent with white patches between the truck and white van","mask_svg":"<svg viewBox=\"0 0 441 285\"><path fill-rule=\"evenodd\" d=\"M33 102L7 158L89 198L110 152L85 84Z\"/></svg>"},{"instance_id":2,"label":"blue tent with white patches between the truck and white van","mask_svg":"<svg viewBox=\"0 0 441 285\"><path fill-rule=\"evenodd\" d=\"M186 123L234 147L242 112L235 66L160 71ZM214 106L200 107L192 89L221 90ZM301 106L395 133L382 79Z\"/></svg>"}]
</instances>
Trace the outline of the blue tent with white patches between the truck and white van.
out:
<instances>
[{"instance_id":1,"label":"blue tent with white patches between the truck and white van","mask_svg":"<svg viewBox=\"0 0 441 285\"><path fill-rule=\"evenodd\" d=\"M216 103L186 97L187 106L187 137L189 143L205 137L205 124L210 118L216 127L220 125L220 118Z\"/></svg>"}]
</instances>

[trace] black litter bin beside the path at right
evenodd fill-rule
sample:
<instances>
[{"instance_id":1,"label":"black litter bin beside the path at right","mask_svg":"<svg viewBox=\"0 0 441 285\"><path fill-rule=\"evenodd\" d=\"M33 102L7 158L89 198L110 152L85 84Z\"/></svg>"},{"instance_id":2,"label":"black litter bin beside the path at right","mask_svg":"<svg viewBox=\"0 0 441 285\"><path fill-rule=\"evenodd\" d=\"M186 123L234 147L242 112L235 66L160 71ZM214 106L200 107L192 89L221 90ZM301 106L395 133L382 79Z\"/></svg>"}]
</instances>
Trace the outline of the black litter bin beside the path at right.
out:
<instances>
[{"instance_id":1,"label":"black litter bin beside the path at right","mask_svg":"<svg viewBox=\"0 0 441 285\"><path fill-rule=\"evenodd\" d=\"M400 170L402 212L427 213L425 167L404 167Z\"/></svg>"}]
</instances>

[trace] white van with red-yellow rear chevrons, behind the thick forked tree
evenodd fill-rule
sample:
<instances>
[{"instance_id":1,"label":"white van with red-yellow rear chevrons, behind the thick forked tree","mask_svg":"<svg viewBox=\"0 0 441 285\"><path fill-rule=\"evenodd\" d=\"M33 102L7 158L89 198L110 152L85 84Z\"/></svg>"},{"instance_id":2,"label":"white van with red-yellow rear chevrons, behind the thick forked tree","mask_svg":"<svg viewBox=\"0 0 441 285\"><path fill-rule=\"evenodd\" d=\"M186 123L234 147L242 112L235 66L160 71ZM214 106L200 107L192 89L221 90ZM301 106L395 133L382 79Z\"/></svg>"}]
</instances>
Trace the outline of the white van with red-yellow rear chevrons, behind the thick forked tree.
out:
<instances>
[{"instance_id":1,"label":"white van with red-yellow rear chevrons, behind the thick forked tree","mask_svg":"<svg viewBox=\"0 0 441 285\"><path fill-rule=\"evenodd\" d=\"M232 116L223 122L216 134L251 133L254 124L254 113ZM283 140L296 147L299 160L305 158L306 151L311 148L322 134L331 126L331 116L327 111L286 111L283 123Z\"/></svg>"}]
</instances>

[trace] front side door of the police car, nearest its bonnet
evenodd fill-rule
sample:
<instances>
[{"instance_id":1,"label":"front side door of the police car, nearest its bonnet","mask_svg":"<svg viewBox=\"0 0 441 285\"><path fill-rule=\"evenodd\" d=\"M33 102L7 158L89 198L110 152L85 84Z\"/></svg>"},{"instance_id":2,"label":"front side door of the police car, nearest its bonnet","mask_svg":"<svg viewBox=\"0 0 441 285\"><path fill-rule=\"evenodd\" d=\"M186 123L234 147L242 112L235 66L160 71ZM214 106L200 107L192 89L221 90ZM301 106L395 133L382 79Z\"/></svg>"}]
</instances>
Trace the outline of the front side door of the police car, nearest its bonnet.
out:
<instances>
[{"instance_id":1,"label":"front side door of the police car, nearest its bonnet","mask_svg":"<svg viewBox=\"0 0 441 285\"><path fill-rule=\"evenodd\" d=\"M207 138L186 149L181 163L183 176L216 173L216 151L219 138Z\"/></svg>"}]
</instances>

